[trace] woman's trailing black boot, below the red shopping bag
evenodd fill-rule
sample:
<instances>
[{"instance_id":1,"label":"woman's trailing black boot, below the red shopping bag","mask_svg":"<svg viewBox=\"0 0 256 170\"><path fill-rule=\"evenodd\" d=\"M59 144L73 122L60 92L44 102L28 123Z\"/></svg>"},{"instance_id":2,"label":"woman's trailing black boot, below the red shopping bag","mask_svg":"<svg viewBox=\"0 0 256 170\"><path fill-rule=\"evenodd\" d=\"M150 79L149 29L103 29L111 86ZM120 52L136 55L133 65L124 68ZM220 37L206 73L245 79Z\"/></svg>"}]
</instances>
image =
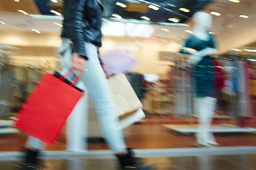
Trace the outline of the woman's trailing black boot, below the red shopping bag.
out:
<instances>
[{"instance_id":1,"label":"woman's trailing black boot, below the red shopping bag","mask_svg":"<svg viewBox=\"0 0 256 170\"><path fill-rule=\"evenodd\" d=\"M25 157L22 162L17 162L15 167L17 170L41 170L38 161L38 150L23 148Z\"/></svg>"}]
</instances>

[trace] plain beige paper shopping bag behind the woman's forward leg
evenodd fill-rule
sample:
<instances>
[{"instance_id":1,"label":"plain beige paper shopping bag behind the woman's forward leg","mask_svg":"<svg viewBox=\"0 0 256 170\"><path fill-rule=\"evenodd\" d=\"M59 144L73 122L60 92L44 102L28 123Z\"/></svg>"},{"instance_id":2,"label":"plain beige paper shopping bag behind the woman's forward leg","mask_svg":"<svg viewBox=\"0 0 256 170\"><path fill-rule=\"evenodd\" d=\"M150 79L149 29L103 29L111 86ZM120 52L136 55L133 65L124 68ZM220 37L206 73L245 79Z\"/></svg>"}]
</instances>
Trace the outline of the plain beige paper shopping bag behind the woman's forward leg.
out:
<instances>
[{"instance_id":1,"label":"plain beige paper shopping bag behind the woman's forward leg","mask_svg":"<svg viewBox=\"0 0 256 170\"><path fill-rule=\"evenodd\" d=\"M117 116L122 116L125 113L131 113L137 111L139 108L143 108L142 103L124 74L114 75L108 79L108 83L116 102Z\"/></svg>"}]
</instances>

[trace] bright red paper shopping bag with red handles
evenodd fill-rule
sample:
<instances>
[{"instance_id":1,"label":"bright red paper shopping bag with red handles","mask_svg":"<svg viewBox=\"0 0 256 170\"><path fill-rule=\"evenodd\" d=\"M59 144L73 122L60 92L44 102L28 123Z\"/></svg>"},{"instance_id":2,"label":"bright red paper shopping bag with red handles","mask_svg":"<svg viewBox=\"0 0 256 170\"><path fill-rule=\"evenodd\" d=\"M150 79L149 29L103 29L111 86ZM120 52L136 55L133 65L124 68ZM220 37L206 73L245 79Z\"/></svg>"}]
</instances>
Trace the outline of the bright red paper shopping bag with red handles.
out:
<instances>
[{"instance_id":1,"label":"bright red paper shopping bag with red handles","mask_svg":"<svg viewBox=\"0 0 256 170\"><path fill-rule=\"evenodd\" d=\"M64 76L58 72L54 75L44 74L17 113L13 124L29 135L52 144L76 103L83 96L83 91L75 87L82 72L70 82L65 77L71 73L73 70Z\"/></svg>"}]
</instances>

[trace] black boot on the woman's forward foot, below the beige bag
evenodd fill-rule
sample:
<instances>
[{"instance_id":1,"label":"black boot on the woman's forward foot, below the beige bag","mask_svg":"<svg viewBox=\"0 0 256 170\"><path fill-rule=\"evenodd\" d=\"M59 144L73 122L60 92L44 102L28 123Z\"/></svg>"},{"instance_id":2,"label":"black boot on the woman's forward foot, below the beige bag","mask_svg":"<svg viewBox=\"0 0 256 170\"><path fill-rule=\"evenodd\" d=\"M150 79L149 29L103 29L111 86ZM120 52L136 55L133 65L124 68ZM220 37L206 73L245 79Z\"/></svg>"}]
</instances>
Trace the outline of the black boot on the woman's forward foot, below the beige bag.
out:
<instances>
[{"instance_id":1,"label":"black boot on the woman's forward foot, below the beige bag","mask_svg":"<svg viewBox=\"0 0 256 170\"><path fill-rule=\"evenodd\" d=\"M144 166L139 158L135 157L135 154L133 152L133 150L131 150L130 148L127 149L128 154L126 155L118 155L116 154L116 157L119 161L119 166L120 169L122 170L153 170L153 167L147 167Z\"/></svg>"}]
</instances>

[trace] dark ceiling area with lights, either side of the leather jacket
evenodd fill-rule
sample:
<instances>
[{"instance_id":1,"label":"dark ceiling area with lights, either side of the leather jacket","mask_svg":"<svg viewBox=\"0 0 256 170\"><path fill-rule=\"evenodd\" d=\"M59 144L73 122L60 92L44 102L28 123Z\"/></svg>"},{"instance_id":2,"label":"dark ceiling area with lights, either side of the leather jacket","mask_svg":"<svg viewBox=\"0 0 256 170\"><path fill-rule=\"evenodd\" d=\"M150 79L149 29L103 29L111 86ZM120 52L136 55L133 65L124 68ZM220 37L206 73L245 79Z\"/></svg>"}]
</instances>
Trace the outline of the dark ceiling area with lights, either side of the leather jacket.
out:
<instances>
[{"instance_id":1,"label":"dark ceiling area with lights, either side of the leather jacket","mask_svg":"<svg viewBox=\"0 0 256 170\"><path fill-rule=\"evenodd\" d=\"M49 6L49 0L35 0L38 8L41 10L42 14L52 15L50 12L51 7ZM143 12L131 12L127 11L126 8L122 8L116 5L116 2L120 3L136 3L136 0L102 0L102 4L105 6L106 11L104 13L104 17L111 17L112 14L118 14L125 19L141 19L142 16L149 17L151 21L154 22L166 22L172 23L169 21L169 18L175 17L180 20L179 23L184 23L187 18L191 17L195 12L199 11L201 8L204 8L208 3L212 2L212 0L147 0L148 3L157 4L163 8L155 11L151 8L146 8ZM171 11L167 11L167 8ZM187 8L190 12L186 13L180 11L179 8Z\"/></svg>"}]
</instances>

